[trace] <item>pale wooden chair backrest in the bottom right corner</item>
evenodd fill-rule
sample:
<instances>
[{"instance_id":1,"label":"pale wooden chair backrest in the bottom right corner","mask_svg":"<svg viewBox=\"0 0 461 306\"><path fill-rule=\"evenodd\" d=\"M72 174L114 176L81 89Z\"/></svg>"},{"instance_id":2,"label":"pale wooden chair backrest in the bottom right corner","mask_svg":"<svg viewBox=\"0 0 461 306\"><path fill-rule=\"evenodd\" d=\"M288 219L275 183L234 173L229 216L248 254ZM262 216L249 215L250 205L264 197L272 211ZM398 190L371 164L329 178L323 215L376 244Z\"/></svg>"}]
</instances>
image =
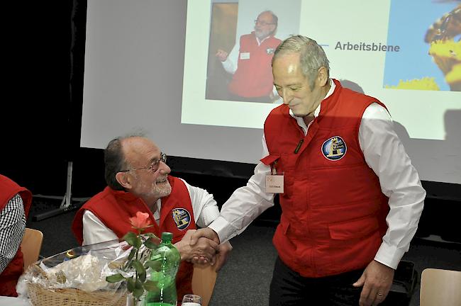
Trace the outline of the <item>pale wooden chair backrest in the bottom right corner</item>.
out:
<instances>
[{"instance_id":1,"label":"pale wooden chair backrest in the bottom right corner","mask_svg":"<svg viewBox=\"0 0 461 306\"><path fill-rule=\"evenodd\" d=\"M420 306L460 306L461 271L424 269L419 302Z\"/></svg>"}]
</instances>

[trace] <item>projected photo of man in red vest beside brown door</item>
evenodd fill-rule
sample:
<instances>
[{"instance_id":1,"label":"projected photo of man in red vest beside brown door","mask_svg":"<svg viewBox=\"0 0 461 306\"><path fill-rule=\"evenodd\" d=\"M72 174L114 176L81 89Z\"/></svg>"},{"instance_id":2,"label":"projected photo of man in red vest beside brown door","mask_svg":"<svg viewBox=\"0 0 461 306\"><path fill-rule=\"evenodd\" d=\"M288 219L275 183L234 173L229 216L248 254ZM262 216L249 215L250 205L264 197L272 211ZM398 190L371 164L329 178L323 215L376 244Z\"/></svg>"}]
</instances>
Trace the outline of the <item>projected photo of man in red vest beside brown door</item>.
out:
<instances>
[{"instance_id":1,"label":"projected photo of man in red vest beside brown door","mask_svg":"<svg viewBox=\"0 0 461 306\"><path fill-rule=\"evenodd\" d=\"M235 15L235 18L238 16L238 21L235 20L235 23L240 26L240 31L236 24L233 33L219 33L217 16L213 16L206 98L260 103L274 103L279 100L274 89L271 61L274 50L282 42L281 39L287 37L284 34L287 26L282 30L284 36L279 36L280 23L279 16L275 13L276 8L284 14L283 17L286 16L286 10L267 2L272 1L238 1L234 4L234 9L238 12ZM220 5L224 9L231 9L228 6L232 4ZM287 21L288 18L284 20ZM289 27L291 26L292 24ZM232 44L223 40L226 35L230 37L229 40L233 40Z\"/></svg>"}]
</instances>

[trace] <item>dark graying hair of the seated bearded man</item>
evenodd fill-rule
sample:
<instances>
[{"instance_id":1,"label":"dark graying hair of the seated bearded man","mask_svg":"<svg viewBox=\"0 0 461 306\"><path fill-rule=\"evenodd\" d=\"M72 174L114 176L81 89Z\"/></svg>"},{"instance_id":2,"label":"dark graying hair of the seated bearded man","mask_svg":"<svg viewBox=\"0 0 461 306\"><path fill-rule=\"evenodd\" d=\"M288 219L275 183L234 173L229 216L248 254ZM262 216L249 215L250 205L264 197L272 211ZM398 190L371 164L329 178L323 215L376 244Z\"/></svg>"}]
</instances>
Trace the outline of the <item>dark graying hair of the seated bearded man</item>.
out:
<instances>
[{"instance_id":1,"label":"dark graying hair of the seated bearded man","mask_svg":"<svg viewBox=\"0 0 461 306\"><path fill-rule=\"evenodd\" d=\"M145 137L145 135L143 132L138 132L116 137L111 140L106 149L104 149L104 178L106 179L107 186L116 191L125 190L125 188L118 183L116 174L126 170L130 166L126 161L125 154L123 154L121 142L131 137Z\"/></svg>"}]
</instances>

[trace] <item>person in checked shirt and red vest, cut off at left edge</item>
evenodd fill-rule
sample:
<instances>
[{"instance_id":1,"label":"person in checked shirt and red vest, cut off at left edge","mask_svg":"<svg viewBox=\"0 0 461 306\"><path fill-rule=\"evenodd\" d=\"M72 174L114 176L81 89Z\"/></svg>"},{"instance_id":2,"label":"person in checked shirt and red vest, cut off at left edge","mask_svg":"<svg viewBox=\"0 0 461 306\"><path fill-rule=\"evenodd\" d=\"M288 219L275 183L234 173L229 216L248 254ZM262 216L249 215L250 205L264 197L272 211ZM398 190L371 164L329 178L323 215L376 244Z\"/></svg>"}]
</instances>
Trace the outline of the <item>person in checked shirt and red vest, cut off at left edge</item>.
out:
<instances>
[{"instance_id":1,"label":"person in checked shirt and red vest, cut off at left edge","mask_svg":"<svg viewBox=\"0 0 461 306\"><path fill-rule=\"evenodd\" d=\"M20 244L31 202L30 191L0 174L0 295L18 296L24 268Z\"/></svg>"}]
</instances>

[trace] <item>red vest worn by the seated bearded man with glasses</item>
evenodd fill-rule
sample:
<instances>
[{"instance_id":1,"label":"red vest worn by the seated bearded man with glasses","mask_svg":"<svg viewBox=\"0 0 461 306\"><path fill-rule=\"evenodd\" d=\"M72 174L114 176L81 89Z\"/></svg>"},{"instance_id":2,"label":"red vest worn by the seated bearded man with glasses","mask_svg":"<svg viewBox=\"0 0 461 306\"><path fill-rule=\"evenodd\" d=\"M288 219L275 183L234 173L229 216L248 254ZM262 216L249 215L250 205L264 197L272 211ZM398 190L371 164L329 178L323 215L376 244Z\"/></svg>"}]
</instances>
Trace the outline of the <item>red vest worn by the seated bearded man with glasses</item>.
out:
<instances>
[{"instance_id":1,"label":"red vest worn by the seated bearded man with glasses","mask_svg":"<svg viewBox=\"0 0 461 306\"><path fill-rule=\"evenodd\" d=\"M162 232L172 232L172 243L179 242L184 237L188 229L196 229L194 211L192 210L191 198L186 185L181 179L168 176L168 181L172 186L170 196L162 198L162 208L160 210L160 225L155 222L152 212L140 198L136 198L131 193L125 191L114 191L106 187L104 191L98 193L80 208L72 222L72 232L79 244L83 242L83 214L84 210L89 210L101 220L101 222L111 229L118 238L122 238L127 232L135 232L131 227L129 217L136 215L136 212L147 212L153 227L149 227L145 232L152 232L157 237L161 237ZM136 233L136 232L135 232ZM177 297L179 304L185 294L191 294L192 274L194 265L182 261L176 278Z\"/></svg>"}]
</instances>

